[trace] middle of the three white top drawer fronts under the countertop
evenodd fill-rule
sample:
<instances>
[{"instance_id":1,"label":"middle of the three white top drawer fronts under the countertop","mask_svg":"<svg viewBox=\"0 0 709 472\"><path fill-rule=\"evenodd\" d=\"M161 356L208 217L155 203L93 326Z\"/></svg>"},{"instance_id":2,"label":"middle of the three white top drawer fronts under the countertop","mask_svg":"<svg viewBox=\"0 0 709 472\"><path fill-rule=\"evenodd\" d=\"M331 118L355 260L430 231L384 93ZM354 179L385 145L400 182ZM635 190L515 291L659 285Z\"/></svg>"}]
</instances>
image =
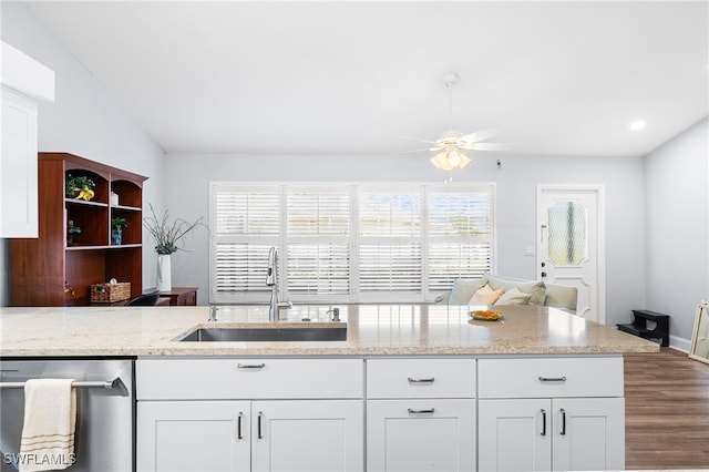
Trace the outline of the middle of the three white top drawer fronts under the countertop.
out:
<instances>
[{"instance_id":1,"label":"middle of the three white top drawer fronts under the countertop","mask_svg":"<svg viewBox=\"0 0 709 472\"><path fill-rule=\"evenodd\" d=\"M372 359L367 398L473 398L474 359Z\"/></svg>"}]
</instances>

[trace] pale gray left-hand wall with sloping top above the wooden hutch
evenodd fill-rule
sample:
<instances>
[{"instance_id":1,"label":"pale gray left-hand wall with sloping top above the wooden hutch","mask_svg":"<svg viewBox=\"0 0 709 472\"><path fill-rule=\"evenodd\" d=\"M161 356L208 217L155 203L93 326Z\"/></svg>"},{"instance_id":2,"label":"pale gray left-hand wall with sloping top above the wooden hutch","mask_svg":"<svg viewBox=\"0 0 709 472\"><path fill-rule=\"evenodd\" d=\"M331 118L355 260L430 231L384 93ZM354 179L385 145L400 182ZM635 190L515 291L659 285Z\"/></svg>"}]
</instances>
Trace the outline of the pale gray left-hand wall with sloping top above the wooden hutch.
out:
<instances>
[{"instance_id":1,"label":"pale gray left-hand wall with sloping top above the wooden hutch","mask_svg":"<svg viewBox=\"0 0 709 472\"><path fill-rule=\"evenodd\" d=\"M160 146L23 2L1 1L0 16L2 40L55 73L55 101L39 106L39 150L69 152L145 175L144 203L162 207ZM7 240L0 239L0 306L8 304L7 250ZM154 286L154 253L145 250L143 261L143 285Z\"/></svg>"}]
</instances>

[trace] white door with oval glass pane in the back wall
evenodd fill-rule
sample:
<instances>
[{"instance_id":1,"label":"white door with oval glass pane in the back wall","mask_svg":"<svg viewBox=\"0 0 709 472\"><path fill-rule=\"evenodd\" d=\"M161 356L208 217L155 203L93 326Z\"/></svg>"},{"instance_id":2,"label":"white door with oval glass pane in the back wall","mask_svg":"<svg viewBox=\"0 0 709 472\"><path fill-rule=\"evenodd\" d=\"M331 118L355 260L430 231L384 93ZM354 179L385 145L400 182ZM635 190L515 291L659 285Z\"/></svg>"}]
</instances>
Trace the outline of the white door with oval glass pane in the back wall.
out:
<instances>
[{"instance_id":1,"label":"white door with oval glass pane in the back wall","mask_svg":"<svg viewBox=\"0 0 709 472\"><path fill-rule=\"evenodd\" d=\"M578 289L576 314L605 324L604 187L537 187L537 269L548 284Z\"/></svg>"}]
</instances>

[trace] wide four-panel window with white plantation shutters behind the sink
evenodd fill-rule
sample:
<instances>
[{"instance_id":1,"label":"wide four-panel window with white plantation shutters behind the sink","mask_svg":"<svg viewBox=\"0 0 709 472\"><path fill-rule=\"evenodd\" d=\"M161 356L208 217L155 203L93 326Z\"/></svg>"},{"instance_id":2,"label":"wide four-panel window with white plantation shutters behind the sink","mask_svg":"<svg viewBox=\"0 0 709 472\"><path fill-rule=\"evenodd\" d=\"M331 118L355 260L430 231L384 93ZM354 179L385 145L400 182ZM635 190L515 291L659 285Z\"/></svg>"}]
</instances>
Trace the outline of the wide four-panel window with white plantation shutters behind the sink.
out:
<instances>
[{"instance_id":1,"label":"wide four-panel window with white plantation shutters behind the sink","mask_svg":"<svg viewBox=\"0 0 709 472\"><path fill-rule=\"evenodd\" d=\"M294 301L434 298L493 266L492 184L213 183L210 301L264 302L268 250Z\"/></svg>"}]
</instances>

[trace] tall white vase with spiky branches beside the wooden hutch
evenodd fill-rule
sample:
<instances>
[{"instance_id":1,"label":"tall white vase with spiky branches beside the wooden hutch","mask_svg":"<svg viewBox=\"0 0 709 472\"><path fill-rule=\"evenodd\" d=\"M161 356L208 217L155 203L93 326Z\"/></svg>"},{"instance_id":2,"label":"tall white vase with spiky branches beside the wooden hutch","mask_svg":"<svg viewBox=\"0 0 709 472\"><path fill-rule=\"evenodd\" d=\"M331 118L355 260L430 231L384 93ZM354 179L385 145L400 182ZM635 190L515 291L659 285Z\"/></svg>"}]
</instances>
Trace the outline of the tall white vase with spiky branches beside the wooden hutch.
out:
<instances>
[{"instance_id":1,"label":"tall white vase with spiky branches beside the wooden hutch","mask_svg":"<svg viewBox=\"0 0 709 472\"><path fill-rule=\"evenodd\" d=\"M183 249L185 237L198 226L205 226L199 217L194 223L182 218L171 222L169 213L165 211L162 218L155 214L153 205L150 205L153 216L143 218L143 226L155 239L155 252L157 253L157 289L162 293L172 290L169 256ZM184 250L184 249L183 249Z\"/></svg>"}]
</instances>

